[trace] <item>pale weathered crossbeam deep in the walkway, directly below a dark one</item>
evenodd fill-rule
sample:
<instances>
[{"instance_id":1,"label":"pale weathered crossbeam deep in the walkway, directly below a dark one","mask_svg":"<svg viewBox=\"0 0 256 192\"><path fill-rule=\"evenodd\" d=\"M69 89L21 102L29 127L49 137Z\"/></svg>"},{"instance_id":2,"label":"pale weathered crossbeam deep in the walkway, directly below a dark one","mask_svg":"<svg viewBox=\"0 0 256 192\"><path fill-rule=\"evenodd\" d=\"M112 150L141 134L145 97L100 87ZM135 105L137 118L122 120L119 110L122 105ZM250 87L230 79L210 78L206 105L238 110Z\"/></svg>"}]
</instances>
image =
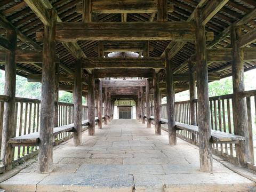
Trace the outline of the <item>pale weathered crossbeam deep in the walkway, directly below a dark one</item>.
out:
<instances>
[{"instance_id":1,"label":"pale weathered crossbeam deep in the walkway, directly below a dark one","mask_svg":"<svg viewBox=\"0 0 256 192\"><path fill-rule=\"evenodd\" d=\"M129 79L129 80L111 80L102 81L102 87L123 87L123 86L145 86L145 80Z\"/></svg>"}]
</instances>

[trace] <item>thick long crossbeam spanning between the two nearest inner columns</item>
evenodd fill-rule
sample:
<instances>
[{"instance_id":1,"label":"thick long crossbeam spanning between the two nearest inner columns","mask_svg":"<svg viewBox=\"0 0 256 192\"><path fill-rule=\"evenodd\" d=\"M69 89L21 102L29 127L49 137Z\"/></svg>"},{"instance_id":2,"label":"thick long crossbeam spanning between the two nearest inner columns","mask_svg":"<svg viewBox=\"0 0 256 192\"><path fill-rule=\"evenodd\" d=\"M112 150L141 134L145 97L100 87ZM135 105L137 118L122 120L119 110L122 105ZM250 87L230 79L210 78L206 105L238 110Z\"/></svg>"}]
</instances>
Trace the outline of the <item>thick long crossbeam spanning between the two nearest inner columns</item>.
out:
<instances>
[{"instance_id":1,"label":"thick long crossbeam spanning between the two nearest inner columns","mask_svg":"<svg viewBox=\"0 0 256 192\"><path fill-rule=\"evenodd\" d=\"M195 40L194 22L57 22L55 29L58 42Z\"/></svg>"}]
</instances>

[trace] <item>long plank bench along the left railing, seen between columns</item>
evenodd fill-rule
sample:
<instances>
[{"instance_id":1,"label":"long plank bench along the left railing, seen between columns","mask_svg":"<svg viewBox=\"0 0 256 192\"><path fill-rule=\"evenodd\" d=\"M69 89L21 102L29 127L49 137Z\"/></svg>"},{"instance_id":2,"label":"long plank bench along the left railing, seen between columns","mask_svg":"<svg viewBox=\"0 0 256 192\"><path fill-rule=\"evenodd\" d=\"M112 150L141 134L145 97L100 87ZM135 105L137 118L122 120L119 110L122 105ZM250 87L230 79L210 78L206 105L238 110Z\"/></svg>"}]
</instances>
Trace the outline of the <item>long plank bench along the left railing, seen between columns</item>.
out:
<instances>
[{"instance_id":1,"label":"long plank bench along the left railing, seen between columns","mask_svg":"<svg viewBox=\"0 0 256 192\"><path fill-rule=\"evenodd\" d=\"M97 122L99 119L98 117L95 117L95 122ZM85 121L82 121L82 126L86 126L89 124L88 119ZM53 135L58 135L63 132L73 132L74 129L74 123L63 125L59 127L53 128ZM12 147L17 146L38 146L39 144L39 132L29 133L26 135L21 135L15 138L9 139L8 143L12 145Z\"/></svg>"}]
</instances>

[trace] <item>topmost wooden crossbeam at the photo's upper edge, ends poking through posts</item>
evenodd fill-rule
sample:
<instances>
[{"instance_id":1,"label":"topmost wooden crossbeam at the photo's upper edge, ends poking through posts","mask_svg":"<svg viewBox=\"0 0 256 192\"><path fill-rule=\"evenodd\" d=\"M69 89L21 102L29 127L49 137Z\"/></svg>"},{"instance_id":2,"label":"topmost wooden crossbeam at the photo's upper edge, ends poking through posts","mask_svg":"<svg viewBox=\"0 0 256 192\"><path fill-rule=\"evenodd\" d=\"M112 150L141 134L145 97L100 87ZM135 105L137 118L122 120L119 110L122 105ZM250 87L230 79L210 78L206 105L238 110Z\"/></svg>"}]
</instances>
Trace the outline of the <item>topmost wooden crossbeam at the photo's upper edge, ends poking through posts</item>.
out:
<instances>
[{"instance_id":1,"label":"topmost wooden crossbeam at the photo's upper edge, ends poking through posts","mask_svg":"<svg viewBox=\"0 0 256 192\"><path fill-rule=\"evenodd\" d=\"M173 12L172 4L167 7L168 12ZM158 11L158 0L124 0L124 1L92 1L92 13L155 13ZM76 12L82 13L82 5L77 5Z\"/></svg>"}]
</instances>

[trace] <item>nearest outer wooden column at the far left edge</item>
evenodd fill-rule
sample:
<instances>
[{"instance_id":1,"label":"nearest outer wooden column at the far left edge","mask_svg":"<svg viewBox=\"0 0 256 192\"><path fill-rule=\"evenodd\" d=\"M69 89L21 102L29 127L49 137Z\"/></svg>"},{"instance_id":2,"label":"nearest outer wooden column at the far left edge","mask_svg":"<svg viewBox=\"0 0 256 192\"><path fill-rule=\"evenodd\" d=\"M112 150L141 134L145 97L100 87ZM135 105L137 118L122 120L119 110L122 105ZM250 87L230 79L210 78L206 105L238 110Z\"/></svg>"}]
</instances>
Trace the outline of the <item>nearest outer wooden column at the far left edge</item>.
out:
<instances>
[{"instance_id":1,"label":"nearest outer wooden column at the far left edge","mask_svg":"<svg viewBox=\"0 0 256 192\"><path fill-rule=\"evenodd\" d=\"M16 84L15 49L17 45L17 34L15 30L6 30L6 39L12 43L12 47L10 51L6 52L5 56L4 94L9 96L9 101L4 102L1 160L2 165L5 165L5 170L10 171L12 169L14 148L7 144L7 142L10 138L15 137L16 133L16 127L14 127L14 111Z\"/></svg>"}]
</instances>

